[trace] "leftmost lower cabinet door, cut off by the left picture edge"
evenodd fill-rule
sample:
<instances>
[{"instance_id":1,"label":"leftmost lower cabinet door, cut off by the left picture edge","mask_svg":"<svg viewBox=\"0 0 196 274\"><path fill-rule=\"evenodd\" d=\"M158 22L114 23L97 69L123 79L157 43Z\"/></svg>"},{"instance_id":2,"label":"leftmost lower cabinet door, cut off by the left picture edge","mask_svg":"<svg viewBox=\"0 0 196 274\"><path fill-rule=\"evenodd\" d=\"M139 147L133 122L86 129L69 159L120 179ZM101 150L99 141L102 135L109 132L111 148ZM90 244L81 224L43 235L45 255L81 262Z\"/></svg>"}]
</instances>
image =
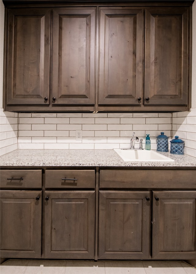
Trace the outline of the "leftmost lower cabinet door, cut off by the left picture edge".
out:
<instances>
[{"instance_id":1,"label":"leftmost lower cabinet door, cut off by the left picture edge","mask_svg":"<svg viewBox=\"0 0 196 274\"><path fill-rule=\"evenodd\" d=\"M41 257L41 191L1 191L1 257Z\"/></svg>"}]
</instances>

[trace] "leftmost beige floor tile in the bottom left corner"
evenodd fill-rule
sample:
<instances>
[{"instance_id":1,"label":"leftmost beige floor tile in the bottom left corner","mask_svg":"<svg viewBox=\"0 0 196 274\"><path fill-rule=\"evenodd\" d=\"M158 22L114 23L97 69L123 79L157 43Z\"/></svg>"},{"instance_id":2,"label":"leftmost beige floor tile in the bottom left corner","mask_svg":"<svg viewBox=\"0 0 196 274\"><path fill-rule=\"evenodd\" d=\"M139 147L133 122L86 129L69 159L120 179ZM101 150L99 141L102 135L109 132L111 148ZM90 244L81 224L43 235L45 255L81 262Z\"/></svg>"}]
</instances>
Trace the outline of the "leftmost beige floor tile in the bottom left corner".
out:
<instances>
[{"instance_id":1,"label":"leftmost beige floor tile in the bottom left corner","mask_svg":"<svg viewBox=\"0 0 196 274\"><path fill-rule=\"evenodd\" d=\"M28 260L8 260L0 265L1 274L24 274Z\"/></svg>"}]
</instances>

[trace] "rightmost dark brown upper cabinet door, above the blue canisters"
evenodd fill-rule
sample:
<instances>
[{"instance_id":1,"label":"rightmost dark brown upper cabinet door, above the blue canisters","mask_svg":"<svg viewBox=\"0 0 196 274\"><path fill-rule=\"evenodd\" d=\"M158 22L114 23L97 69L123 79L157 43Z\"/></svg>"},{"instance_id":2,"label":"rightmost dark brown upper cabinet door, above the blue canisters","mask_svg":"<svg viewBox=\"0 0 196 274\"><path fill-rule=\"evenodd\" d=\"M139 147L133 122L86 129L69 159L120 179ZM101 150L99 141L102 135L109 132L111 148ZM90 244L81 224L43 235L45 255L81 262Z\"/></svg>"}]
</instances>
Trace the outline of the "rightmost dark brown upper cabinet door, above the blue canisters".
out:
<instances>
[{"instance_id":1,"label":"rightmost dark brown upper cabinet door, above the blue canisters","mask_svg":"<svg viewBox=\"0 0 196 274\"><path fill-rule=\"evenodd\" d=\"M146 9L145 104L186 105L189 8Z\"/></svg>"}]
</instances>

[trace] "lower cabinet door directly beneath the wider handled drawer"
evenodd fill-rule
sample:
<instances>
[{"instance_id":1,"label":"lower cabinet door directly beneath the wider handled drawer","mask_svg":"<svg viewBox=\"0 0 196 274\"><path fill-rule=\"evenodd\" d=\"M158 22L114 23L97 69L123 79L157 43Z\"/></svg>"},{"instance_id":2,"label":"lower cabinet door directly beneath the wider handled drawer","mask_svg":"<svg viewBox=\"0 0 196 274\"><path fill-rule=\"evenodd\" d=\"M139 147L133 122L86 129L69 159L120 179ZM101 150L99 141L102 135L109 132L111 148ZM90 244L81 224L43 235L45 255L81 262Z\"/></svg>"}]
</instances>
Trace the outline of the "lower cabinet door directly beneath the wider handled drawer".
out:
<instances>
[{"instance_id":1,"label":"lower cabinet door directly beneath the wider handled drawer","mask_svg":"<svg viewBox=\"0 0 196 274\"><path fill-rule=\"evenodd\" d=\"M45 258L94 259L94 191L45 192Z\"/></svg>"}]
</instances>

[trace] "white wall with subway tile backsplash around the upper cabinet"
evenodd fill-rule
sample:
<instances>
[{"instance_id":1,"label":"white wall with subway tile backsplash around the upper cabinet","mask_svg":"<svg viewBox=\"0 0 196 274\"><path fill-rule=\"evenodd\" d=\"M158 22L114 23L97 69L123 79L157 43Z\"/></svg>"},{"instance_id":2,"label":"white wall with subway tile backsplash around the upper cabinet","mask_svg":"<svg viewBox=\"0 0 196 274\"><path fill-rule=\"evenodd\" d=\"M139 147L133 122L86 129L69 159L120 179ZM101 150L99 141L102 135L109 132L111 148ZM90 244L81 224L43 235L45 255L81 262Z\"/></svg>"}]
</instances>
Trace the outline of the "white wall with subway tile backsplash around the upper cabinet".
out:
<instances>
[{"instance_id":1,"label":"white wall with subway tile backsplash around the upper cabinet","mask_svg":"<svg viewBox=\"0 0 196 274\"><path fill-rule=\"evenodd\" d=\"M135 132L139 138L161 131L185 141L185 153L196 157L196 1L193 4L192 108L179 113L11 113L3 112L4 5L0 0L0 118L1 154L17 149L112 149L129 146ZM75 130L83 138L75 139ZM17 138L18 137L18 138Z\"/></svg>"}]
</instances>

